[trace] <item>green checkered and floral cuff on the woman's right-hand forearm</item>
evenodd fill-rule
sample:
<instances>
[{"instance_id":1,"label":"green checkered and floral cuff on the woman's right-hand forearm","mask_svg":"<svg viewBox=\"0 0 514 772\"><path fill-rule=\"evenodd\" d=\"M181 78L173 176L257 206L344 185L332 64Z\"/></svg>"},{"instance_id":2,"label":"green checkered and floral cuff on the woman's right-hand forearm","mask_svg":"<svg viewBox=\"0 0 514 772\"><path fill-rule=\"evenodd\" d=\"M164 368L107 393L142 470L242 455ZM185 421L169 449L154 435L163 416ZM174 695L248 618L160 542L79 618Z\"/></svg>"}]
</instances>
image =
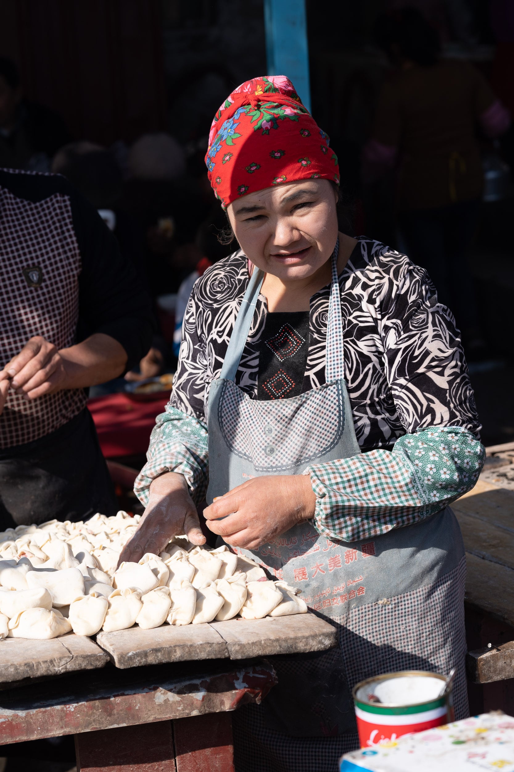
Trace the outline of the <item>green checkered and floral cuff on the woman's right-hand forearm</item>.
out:
<instances>
[{"instance_id":1,"label":"green checkered and floral cuff on the woman's right-hand forearm","mask_svg":"<svg viewBox=\"0 0 514 772\"><path fill-rule=\"evenodd\" d=\"M471 432L443 426L405 435L392 451L312 466L314 527L331 539L358 541L416 523L472 489L484 458Z\"/></svg>"}]
</instances>

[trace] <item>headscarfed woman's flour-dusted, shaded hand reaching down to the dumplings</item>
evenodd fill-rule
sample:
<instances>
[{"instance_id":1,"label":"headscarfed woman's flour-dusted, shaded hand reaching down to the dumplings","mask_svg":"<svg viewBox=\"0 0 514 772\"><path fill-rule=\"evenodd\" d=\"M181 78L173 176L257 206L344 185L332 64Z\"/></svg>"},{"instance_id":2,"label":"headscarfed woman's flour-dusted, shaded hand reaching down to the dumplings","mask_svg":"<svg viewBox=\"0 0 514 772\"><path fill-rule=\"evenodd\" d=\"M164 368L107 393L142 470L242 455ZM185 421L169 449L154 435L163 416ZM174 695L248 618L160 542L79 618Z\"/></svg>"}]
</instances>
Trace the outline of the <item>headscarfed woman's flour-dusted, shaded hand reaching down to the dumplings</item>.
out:
<instances>
[{"instance_id":1,"label":"headscarfed woman's flour-dusted, shaded hand reaching down to the dumplings","mask_svg":"<svg viewBox=\"0 0 514 772\"><path fill-rule=\"evenodd\" d=\"M175 472L166 472L150 484L148 506L136 533L123 547L118 565L123 560L137 563L146 552L158 555L174 536L183 533L193 544L206 542L186 479Z\"/></svg>"}]
</instances>

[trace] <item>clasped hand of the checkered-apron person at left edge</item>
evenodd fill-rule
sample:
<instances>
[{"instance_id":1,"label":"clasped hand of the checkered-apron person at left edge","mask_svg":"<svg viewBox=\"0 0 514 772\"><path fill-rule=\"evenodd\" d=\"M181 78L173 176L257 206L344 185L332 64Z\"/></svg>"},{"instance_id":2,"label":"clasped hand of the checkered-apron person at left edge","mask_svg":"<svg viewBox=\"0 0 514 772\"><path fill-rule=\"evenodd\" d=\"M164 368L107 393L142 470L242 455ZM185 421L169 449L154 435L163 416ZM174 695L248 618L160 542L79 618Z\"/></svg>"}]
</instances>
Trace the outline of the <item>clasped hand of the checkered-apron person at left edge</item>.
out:
<instances>
[{"instance_id":1,"label":"clasped hand of the checkered-apron person at left edge","mask_svg":"<svg viewBox=\"0 0 514 772\"><path fill-rule=\"evenodd\" d=\"M41 335L30 338L20 353L0 371L2 389L5 390L6 381L16 394L22 394L27 400L66 388L67 378L66 361L54 344Z\"/></svg>"}]
</instances>

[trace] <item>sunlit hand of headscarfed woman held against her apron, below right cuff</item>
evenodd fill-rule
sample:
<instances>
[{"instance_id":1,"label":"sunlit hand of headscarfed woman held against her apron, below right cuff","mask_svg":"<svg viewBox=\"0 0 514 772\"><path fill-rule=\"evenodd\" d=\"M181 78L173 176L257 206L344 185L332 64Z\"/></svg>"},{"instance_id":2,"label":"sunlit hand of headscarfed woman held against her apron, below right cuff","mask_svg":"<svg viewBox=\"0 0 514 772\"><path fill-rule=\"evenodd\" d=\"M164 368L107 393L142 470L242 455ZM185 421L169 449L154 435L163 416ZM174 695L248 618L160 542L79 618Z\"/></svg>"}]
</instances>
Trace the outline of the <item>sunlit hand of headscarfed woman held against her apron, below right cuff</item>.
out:
<instances>
[{"instance_id":1,"label":"sunlit hand of headscarfed woman held against her apron, below right cuff","mask_svg":"<svg viewBox=\"0 0 514 772\"><path fill-rule=\"evenodd\" d=\"M210 530L231 547L255 550L314 516L315 506L308 475L264 476L220 496L203 516Z\"/></svg>"}]
</instances>

